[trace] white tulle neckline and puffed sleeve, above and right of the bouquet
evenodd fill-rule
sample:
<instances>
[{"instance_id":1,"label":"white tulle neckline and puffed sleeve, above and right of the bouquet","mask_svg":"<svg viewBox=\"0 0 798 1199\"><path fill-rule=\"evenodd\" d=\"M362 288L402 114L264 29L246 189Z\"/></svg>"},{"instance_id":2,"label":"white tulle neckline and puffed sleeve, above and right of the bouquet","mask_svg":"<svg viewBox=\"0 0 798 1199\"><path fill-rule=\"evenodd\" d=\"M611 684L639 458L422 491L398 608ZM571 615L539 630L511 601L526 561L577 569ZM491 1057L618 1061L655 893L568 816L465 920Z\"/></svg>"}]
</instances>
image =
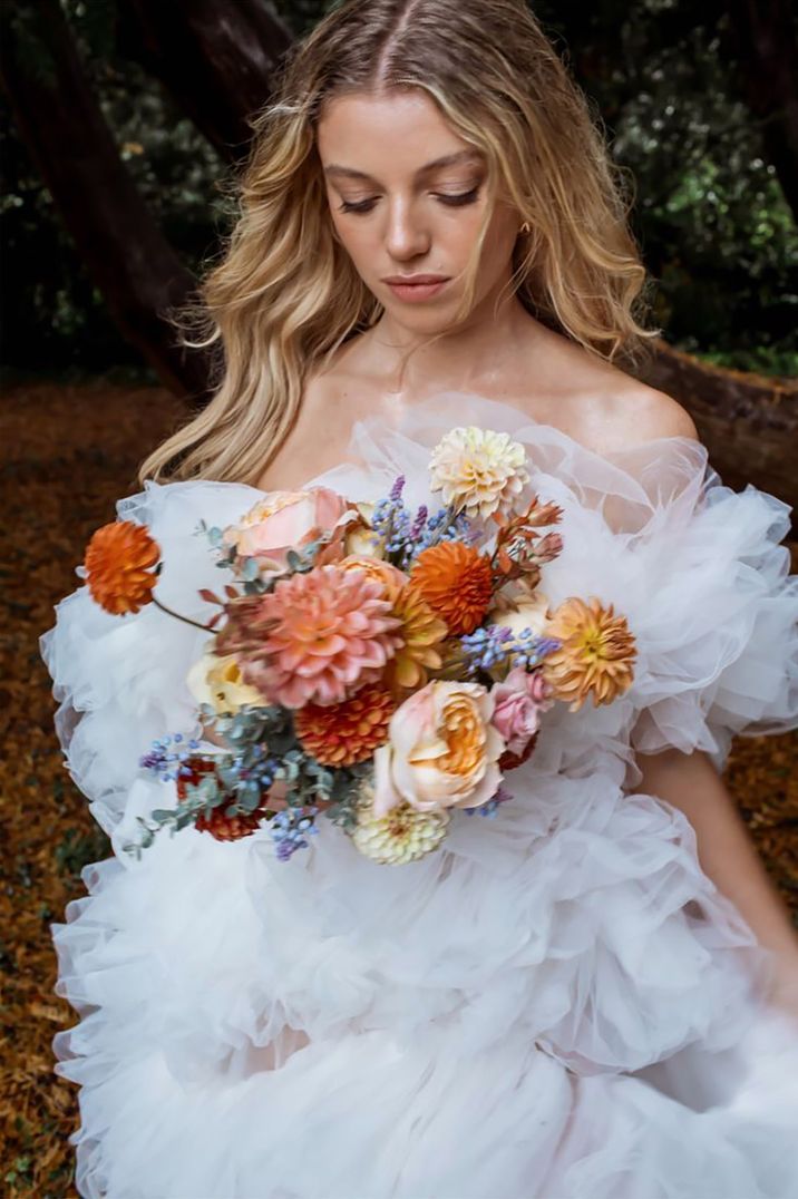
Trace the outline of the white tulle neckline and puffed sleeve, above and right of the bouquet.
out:
<instances>
[{"instance_id":1,"label":"white tulle neckline and puffed sleeve, above and right of the bouquet","mask_svg":"<svg viewBox=\"0 0 798 1199\"><path fill-rule=\"evenodd\" d=\"M570 748L613 742L640 753L706 751L722 769L732 736L798 727L798 577L790 574L790 507L725 486L701 442L660 438L596 454L508 404L448 393L386 430L362 422L354 447L385 487L403 472L425 494L430 448L450 428L476 424L521 441L529 489L563 508L563 554L544 570L553 604L598 596L626 616L638 657L635 682L610 709L557 719ZM356 487L354 468L325 477ZM562 716L562 713L560 713ZM542 749L542 746L541 746ZM589 765L589 754L580 759ZM586 767L587 769L587 767Z\"/></svg>"}]
</instances>

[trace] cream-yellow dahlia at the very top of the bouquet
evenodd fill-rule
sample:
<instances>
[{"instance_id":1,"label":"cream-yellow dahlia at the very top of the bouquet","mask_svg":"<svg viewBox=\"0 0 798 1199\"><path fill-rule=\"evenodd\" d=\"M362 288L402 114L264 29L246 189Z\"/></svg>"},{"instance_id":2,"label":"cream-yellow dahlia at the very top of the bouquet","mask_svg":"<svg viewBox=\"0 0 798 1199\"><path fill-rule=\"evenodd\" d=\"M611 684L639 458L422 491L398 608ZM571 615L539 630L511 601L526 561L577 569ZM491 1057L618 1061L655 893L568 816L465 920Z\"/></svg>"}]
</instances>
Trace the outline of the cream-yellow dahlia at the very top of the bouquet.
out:
<instances>
[{"instance_id":1,"label":"cream-yellow dahlia at the very top of the bouquet","mask_svg":"<svg viewBox=\"0 0 798 1199\"><path fill-rule=\"evenodd\" d=\"M529 481L522 445L492 429L452 429L432 451L432 490L467 516L509 512Z\"/></svg>"}]
</instances>

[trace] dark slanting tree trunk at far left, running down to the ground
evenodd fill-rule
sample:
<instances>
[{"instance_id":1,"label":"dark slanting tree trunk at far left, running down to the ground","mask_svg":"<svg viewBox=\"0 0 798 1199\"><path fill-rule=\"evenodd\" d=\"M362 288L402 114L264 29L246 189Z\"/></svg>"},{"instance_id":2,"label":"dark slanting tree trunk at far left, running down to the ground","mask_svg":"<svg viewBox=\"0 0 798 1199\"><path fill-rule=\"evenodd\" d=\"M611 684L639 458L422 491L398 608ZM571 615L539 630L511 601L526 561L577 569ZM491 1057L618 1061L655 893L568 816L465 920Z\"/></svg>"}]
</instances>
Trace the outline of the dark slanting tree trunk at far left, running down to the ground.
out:
<instances>
[{"instance_id":1,"label":"dark slanting tree trunk at far left, running down to the ground","mask_svg":"<svg viewBox=\"0 0 798 1199\"><path fill-rule=\"evenodd\" d=\"M0 82L19 133L122 335L167 387L202 402L206 353L176 344L166 313L196 287L119 157L58 0L5 11Z\"/></svg>"}]
</instances>

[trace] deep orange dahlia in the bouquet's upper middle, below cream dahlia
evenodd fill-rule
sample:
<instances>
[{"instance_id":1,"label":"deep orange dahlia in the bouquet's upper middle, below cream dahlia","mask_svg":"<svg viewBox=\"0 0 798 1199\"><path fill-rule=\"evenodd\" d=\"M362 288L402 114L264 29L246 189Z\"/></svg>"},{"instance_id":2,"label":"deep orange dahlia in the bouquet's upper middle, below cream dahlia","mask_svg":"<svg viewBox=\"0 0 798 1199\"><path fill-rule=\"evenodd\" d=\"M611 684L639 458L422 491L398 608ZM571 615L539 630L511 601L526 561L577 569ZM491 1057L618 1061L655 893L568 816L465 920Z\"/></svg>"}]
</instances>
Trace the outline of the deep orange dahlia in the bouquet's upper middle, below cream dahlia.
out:
<instances>
[{"instance_id":1,"label":"deep orange dahlia in the bouquet's upper middle, below cream dahlia","mask_svg":"<svg viewBox=\"0 0 798 1199\"><path fill-rule=\"evenodd\" d=\"M419 554L410 580L452 637L473 633L493 595L491 562L473 546L444 541Z\"/></svg>"}]
</instances>

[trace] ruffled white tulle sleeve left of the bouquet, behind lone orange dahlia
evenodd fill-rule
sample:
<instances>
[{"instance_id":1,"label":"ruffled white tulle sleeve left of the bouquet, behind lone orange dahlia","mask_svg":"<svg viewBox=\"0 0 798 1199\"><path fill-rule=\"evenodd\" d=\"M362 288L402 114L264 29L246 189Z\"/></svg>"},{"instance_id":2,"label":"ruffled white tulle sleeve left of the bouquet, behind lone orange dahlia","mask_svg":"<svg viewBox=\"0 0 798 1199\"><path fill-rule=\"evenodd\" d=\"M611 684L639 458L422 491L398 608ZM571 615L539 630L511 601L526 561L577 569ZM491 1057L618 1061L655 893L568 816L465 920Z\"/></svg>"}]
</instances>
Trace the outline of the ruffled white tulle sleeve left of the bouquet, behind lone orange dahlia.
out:
<instances>
[{"instance_id":1,"label":"ruffled white tulle sleeve left of the bouquet, behind lone orange dahlia","mask_svg":"<svg viewBox=\"0 0 798 1199\"><path fill-rule=\"evenodd\" d=\"M210 620L215 609L198 590L224 579L199 523L232 523L260 496L234 483L148 482L144 492L118 502L118 518L146 525L161 547L162 603L200 623ZM152 740L194 729L186 675L208 639L154 604L113 616L85 585L56 605L55 625L40 639L59 705L55 729L67 769L107 832L125 812L139 758Z\"/></svg>"}]
</instances>

